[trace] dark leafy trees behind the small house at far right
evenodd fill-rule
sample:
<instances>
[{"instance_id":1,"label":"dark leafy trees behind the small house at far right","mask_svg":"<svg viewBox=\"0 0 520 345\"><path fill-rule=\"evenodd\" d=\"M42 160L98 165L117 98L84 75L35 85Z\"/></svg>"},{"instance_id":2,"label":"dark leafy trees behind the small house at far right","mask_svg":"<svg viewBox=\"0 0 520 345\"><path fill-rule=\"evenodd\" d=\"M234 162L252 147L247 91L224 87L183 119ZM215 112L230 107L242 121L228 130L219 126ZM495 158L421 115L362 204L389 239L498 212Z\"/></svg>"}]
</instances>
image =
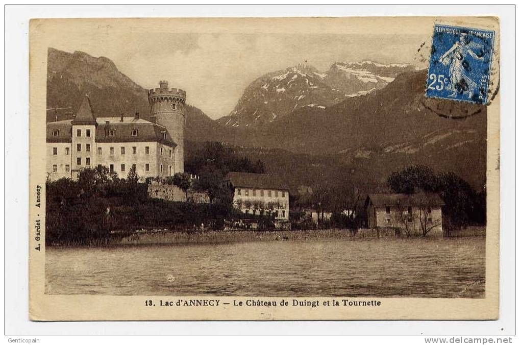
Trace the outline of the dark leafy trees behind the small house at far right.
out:
<instances>
[{"instance_id":1,"label":"dark leafy trees behind the small house at far right","mask_svg":"<svg viewBox=\"0 0 520 345\"><path fill-rule=\"evenodd\" d=\"M393 172L387 181L393 193L413 194L438 193L443 199L443 227L451 228L471 224L486 223L486 189L476 191L469 183L452 172L435 173L425 165L414 165L399 172ZM424 202L424 208L430 205ZM427 218L427 211L424 214ZM422 214L422 213L421 213ZM428 231L427 219L419 220L429 225L423 226Z\"/></svg>"}]
</instances>

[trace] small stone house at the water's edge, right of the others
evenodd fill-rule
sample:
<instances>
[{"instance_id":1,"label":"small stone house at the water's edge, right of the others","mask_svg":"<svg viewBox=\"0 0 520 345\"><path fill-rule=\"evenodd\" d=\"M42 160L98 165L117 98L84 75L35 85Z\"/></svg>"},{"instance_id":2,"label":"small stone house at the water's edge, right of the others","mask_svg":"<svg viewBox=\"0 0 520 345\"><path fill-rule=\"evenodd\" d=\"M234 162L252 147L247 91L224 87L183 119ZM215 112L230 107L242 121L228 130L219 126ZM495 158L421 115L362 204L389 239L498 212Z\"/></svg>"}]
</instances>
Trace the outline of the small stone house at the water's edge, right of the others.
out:
<instances>
[{"instance_id":1,"label":"small stone house at the water's edge, right of the others","mask_svg":"<svg viewBox=\"0 0 520 345\"><path fill-rule=\"evenodd\" d=\"M369 194L367 227L399 228L405 235L442 235L444 201L438 194Z\"/></svg>"}]
</instances>

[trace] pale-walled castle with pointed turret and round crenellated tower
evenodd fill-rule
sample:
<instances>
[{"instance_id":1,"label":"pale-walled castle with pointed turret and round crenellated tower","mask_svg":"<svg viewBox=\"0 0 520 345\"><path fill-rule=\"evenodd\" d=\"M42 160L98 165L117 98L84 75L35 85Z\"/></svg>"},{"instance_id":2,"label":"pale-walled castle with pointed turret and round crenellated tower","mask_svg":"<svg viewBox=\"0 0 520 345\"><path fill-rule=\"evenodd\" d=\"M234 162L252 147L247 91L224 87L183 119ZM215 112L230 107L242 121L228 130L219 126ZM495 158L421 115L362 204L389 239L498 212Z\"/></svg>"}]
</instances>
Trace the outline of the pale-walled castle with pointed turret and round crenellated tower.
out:
<instances>
[{"instance_id":1,"label":"pale-walled castle with pointed turret and round crenellated tower","mask_svg":"<svg viewBox=\"0 0 520 345\"><path fill-rule=\"evenodd\" d=\"M133 117L96 117L85 97L72 120L47 122L49 180L77 178L84 168L105 166L125 178L134 167L141 177L184 172L186 92L159 88L148 92L150 121Z\"/></svg>"}]
</instances>

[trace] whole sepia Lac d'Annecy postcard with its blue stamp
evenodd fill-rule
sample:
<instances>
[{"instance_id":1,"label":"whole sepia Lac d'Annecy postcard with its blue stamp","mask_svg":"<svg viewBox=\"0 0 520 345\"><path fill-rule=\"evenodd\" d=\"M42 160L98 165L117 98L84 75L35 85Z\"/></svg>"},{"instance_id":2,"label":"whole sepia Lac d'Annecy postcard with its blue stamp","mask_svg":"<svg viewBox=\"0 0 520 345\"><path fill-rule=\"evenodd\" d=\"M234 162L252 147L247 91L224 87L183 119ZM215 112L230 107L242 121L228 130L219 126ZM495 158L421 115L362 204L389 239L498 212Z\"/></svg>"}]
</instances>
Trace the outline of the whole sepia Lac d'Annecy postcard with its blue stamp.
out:
<instances>
[{"instance_id":1,"label":"whole sepia Lac d'Annecy postcard with its blue stamp","mask_svg":"<svg viewBox=\"0 0 520 345\"><path fill-rule=\"evenodd\" d=\"M498 317L495 17L33 19L30 318Z\"/></svg>"}]
</instances>

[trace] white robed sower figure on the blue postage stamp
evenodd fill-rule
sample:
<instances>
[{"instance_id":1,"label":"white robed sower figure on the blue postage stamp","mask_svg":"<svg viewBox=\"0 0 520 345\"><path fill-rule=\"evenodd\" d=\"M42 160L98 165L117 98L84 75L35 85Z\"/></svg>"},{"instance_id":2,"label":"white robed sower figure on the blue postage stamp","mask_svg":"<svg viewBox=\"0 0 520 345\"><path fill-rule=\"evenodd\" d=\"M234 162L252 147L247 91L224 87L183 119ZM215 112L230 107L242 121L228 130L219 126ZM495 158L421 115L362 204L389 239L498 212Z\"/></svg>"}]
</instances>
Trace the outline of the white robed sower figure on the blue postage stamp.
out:
<instances>
[{"instance_id":1,"label":"white robed sower figure on the blue postage stamp","mask_svg":"<svg viewBox=\"0 0 520 345\"><path fill-rule=\"evenodd\" d=\"M469 54L477 60L484 60L484 57L478 56L472 50L480 48L481 46L479 44L469 39L467 33L462 32L459 41L455 42L446 53L440 56L439 62L443 63L444 66L450 65L449 88L453 93L448 97L454 97L457 93L467 93L469 98L473 96L474 90L478 85L471 80L470 76L466 73L466 70L469 69L467 55Z\"/></svg>"}]
</instances>

